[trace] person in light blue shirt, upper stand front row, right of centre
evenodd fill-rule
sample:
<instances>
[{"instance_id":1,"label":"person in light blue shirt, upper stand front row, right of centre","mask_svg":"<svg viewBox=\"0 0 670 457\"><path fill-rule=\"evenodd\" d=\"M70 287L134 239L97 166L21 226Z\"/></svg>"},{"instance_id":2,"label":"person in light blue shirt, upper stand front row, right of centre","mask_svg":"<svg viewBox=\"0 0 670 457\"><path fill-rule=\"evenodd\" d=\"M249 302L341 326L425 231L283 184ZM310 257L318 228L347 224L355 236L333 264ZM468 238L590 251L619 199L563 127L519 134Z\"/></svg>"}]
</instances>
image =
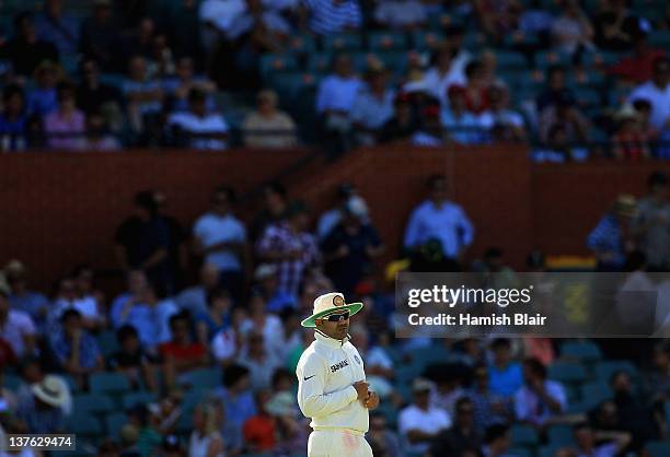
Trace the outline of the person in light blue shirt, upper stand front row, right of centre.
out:
<instances>
[{"instance_id":1,"label":"person in light blue shirt, upper stand front row, right of centre","mask_svg":"<svg viewBox=\"0 0 670 457\"><path fill-rule=\"evenodd\" d=\"M442 109L440 121L449 139L458 144L477 144L485 138L485 118L475 116L465 105L465 90L449 87L449 107Z\"/></svg>"}]
</instances>

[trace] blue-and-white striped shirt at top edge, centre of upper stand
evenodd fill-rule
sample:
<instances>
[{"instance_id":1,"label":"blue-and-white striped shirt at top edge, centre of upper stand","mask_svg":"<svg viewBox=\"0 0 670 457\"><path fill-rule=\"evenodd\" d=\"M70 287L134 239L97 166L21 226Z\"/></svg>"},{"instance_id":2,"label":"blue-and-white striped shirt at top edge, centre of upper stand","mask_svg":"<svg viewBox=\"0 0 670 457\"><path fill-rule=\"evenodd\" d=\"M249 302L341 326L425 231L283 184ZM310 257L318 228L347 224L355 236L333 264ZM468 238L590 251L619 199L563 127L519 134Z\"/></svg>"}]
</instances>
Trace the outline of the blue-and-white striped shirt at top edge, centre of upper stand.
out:
<instances>
[{"instance_id":1,"label":"blue-and-white striped shirt at top edge, centre of upper stand","mask_svg":"<svg viewBox=\"0 0 670 457\"><path fill-rule=\"evenodd\" d=\"M331 35L346 28L360 28L362 15L358 0L303 0L310 10L310 28L319 35Z\"/></svg>"}]
</instances>

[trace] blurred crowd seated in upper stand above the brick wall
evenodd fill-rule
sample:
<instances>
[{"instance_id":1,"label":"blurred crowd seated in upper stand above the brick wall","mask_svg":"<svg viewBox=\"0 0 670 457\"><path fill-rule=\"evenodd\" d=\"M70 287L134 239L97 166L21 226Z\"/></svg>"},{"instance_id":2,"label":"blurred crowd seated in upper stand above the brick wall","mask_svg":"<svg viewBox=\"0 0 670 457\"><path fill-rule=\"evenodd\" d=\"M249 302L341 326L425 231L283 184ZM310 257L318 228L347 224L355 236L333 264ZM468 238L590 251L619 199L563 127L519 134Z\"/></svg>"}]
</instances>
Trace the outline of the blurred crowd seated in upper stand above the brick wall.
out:
<instances>
[{"instance_id":1,"label":"blurred crowd seated in upper stand above the brick wall","mask_svg":"<svg viewBox=\"0 0 670 457\"><path fill-rule=\"evenodd\" d=\"M3 2L3 151L670 148L662 0Z\"/></svg>"}]
</instances>

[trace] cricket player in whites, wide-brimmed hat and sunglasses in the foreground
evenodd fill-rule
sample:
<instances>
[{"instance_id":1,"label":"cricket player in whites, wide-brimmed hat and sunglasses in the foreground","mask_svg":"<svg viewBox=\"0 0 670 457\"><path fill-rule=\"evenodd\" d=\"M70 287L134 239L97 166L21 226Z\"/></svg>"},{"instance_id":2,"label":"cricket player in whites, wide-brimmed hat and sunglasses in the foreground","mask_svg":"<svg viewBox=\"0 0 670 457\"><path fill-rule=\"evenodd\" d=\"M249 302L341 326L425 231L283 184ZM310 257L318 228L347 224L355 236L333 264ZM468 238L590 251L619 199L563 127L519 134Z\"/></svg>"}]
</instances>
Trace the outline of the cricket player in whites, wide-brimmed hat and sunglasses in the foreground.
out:
<instances>
[{"instance_id":1,"label":"cricket player in whites, wide-brimmed hat and sunglasses in the foreground","mask_svg":"<svg viewBox=\"0 0 670 457\"><path fill-rule=\"evenodd\" d=\"M379 395L368 389L360 354L349 342L349 317L362 303L345 303L340 293L321 295L302 321L314 327L315 341L298 362L298 405L312 418L308 457L371 457L365 438L368 411Z\"/></svg>"}]
</instances>

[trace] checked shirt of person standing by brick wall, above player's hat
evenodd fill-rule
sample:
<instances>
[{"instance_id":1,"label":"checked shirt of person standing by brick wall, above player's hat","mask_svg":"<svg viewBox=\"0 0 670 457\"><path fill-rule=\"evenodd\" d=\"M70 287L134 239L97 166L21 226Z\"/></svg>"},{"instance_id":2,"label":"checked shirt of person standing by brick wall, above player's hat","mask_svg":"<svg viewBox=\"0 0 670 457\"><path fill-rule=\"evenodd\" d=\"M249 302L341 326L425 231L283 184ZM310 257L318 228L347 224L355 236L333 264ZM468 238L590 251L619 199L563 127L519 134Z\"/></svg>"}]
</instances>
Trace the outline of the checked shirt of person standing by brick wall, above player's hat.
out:
<instances>
[{"instance_id":1,"label":"checked shirt of person standing by brick wall, above player's hat","mask_svg":"<svg viewBox=\"0 0 670 457\"><path fill-rule=\"evenodd\" d=\"M302 232L293 233L289 226L282 222L269 225L261 239L258 239L256 250L261 257L269 251L288 254L293 250L301 250L302 256L297 260L281 260L277 262L279 276L279 292L298 296L298 288L302 281L304 270L321 262L321 253L316 247L313 235Z\"/></svg>"}]
</instances>

